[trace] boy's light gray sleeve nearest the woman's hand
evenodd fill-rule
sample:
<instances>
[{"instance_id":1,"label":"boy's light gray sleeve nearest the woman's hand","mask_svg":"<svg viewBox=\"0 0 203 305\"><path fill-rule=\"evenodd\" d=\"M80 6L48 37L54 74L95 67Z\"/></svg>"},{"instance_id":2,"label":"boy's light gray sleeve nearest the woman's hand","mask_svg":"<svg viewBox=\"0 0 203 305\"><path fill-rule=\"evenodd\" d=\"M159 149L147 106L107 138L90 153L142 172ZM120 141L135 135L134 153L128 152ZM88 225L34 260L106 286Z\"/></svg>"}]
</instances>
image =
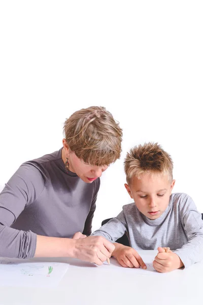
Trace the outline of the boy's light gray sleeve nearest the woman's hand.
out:
<instances>
[{"instance_id":1,"label":"boy's light gray sleeve nearest the woman's hand","mask_svg":"<svg viewBox=\"0 0 203 305\"><path fill-rule=\"evenodd\" d=\"M111 242L115 242L118 238L122 237L126 231L127 224L125 215L124 212L121 211L117 217L111 219L107 224L100 227L100 229L94 231L91 236L99 235Z\"/></svg>"}]
</instances>

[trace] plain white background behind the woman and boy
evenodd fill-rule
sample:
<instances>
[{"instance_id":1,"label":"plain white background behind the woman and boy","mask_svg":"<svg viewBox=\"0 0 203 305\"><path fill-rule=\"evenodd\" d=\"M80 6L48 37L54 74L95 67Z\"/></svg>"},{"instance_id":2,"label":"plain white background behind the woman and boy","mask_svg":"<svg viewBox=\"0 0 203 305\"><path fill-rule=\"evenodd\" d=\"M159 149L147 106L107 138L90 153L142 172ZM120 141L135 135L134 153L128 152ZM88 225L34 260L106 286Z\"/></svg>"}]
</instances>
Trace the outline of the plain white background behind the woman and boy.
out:
<instances>
[{"instance_id":1,"label":"plain white background behind the woman and boy","mask_svg":"<svg viewBox=\"0 0 203 305\"><path fill-rule=\"evenodd\" d=\"M174 192L202 202L202 1L1 1L0 187L58 150L66 117L105 106L122 156L101 177L93 229L131 202L123 160L154 141L174 160Z\"/></svg>"}]
</instances>

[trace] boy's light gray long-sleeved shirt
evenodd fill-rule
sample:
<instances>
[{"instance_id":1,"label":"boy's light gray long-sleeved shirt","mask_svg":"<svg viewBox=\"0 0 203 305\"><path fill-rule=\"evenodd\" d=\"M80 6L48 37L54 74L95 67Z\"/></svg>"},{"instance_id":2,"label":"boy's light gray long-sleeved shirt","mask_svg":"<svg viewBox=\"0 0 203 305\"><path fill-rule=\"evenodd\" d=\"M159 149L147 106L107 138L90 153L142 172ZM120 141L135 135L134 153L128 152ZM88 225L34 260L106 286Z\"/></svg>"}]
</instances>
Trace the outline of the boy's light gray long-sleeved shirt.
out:
<instances>
[{"instance_id":1,"label":"boy's light gray long-sleeved shirt","mask_svg":"<svg viewBox=\"0 0 203 305\"><path fill-rule=\"evenodd\" d=\"M130 247L136 250L157 250L170 247L185 267L203 259L203 221L191 197L174 193L163 214L156 220L144 216L134 203L126 204L120 214L92 235L101 235L114 242L124 233Z\"/></svg>"}]
</instances>

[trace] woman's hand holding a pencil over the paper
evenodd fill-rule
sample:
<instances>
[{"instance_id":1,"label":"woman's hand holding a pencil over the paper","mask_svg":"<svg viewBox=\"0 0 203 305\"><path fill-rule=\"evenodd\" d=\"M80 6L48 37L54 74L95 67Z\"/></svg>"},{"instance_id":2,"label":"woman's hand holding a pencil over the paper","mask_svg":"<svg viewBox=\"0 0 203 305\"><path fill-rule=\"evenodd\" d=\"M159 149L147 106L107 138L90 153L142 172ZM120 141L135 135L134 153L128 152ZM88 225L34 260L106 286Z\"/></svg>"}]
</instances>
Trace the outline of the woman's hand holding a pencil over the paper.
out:
<instances>
[{"instance_id":1,"label":"woman's hand holding a pencil over the paper","mask_svg":"<svg viewBox=\"0 0 203 305\"><path fill-rule=\"evenodd\" d=\"M82 234L82 233L81 233ZM74 239L74 257L90 263L102 265L111 257L115 246L102 236L88 236Z\"/></svg>"}]
</instances>

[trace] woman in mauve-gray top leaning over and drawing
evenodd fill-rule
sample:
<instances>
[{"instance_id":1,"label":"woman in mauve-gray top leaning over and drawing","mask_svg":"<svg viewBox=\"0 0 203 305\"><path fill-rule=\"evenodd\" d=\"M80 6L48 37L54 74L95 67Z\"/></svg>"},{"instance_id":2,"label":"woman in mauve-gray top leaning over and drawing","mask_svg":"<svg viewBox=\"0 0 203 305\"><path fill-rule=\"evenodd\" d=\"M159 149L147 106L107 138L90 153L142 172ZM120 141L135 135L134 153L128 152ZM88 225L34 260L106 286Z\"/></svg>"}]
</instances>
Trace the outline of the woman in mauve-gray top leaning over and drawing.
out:
<instances>
[{"instance_id":1,"label":"woman in mauve-gray top leaning over and drawing","mask_svg":"<svg viewBox=\"0 0 203 305\"><path fill-rule=\"evenodd\" d=\"M104 107L89 107L66 119L64 134L61 149L23 163L0 194L0 256L98 265L111 256L111 242L86 235L99 177L120 157L122 130Z\"/></svg>"}]
</instances>

